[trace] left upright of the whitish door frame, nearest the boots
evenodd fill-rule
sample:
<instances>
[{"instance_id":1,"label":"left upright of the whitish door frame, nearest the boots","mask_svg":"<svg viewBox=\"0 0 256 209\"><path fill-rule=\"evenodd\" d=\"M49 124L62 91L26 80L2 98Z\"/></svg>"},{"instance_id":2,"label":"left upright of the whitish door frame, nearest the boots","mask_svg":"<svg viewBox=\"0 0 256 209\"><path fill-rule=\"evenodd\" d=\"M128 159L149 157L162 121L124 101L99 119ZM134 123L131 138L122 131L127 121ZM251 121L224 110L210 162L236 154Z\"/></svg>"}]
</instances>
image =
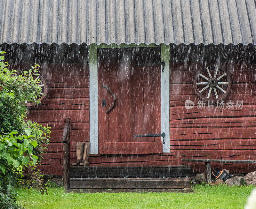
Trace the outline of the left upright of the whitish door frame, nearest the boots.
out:
<instances>
[{"instance_id":1,"label":"left upright of the whitish door frame, nearest the boots","mask_svg":"<svg viewBox=\"0 0 256 209\"><path fill-rule=\"evenodd\" d=\"M97 45L89 46L89 97L90 97L90 142L91 154L99 153L98 129L98 59Z\"/></svg>"}]
</instances>

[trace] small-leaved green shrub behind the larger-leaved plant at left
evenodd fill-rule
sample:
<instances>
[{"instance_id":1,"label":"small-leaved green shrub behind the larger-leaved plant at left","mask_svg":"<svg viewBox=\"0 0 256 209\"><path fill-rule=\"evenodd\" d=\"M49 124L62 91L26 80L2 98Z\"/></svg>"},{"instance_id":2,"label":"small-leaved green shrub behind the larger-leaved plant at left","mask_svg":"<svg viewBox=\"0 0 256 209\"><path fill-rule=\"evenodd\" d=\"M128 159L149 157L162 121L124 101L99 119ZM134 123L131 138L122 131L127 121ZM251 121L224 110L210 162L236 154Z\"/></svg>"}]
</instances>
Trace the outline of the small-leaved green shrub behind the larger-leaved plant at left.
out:
<instances>
[{"instance_id":1,"label":"small-leaved green shrub behind the larger-leaved plant at left","mask_svg":"<svg viewBox=\"0 0 256 209\"><path fill-rule=\"evenodd\" d=\"M6 135L12 130L21 134L31 129L38 144L33 153L39 157L40 163L42 153L47 149L46 144L50 143L50 127L25 120L28 109L24 105L26 101L40 102L35 99L41 96L40 79L35 81L33 78L38 76L40 66L35 64L26 71L8 70L9 63L3 62L4 53L0 52L0 131Z\"/></svg>"}]
</instances>

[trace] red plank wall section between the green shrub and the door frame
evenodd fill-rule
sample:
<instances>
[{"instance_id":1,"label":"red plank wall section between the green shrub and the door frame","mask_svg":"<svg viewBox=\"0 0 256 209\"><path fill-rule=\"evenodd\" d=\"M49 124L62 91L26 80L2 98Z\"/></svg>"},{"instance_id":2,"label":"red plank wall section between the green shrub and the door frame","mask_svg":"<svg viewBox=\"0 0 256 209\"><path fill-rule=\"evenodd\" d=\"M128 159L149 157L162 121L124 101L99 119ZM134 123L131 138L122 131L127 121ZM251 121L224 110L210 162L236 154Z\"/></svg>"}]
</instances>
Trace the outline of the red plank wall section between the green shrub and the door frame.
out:
<instances>
[{"instance_id":1,"label":"red plank wall section between the green shrub and the door frame","mask_svg":"<svg viewBox=\"0 0 256 209\"><path fill-rule=\"evenodd\" d=\"M76 142L90 141L89 66L87 63L47 64L42 65L40 73L48 83L48 95L41 104L29 107L27 119L48 124L52 133L51 144L38 168L44 174L63 175L61 141L64 119L71 118L70 157L73 161L76 157Z\"/></svg>"}]
</instances>

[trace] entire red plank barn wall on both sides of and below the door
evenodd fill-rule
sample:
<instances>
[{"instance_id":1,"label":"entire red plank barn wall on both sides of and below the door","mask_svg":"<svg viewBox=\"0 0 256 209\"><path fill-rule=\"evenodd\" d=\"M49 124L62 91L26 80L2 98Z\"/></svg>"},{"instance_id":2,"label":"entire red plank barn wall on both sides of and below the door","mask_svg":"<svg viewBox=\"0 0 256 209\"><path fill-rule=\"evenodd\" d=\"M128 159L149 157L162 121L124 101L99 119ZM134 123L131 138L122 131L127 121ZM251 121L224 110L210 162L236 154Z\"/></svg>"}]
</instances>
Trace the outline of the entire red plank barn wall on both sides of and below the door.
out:
<instances>
[{"instance_id":1,"label":"entire red plank barn wall on both sides of and below the door","mask_svg":"<svg viewBox=\"0 0 256 209\"><path fill-rule=\"evenodd\" d=\"M179 53L185 56L174 58L171 53L170 73L170 132L171 152L148 155L93 155L90 165L97 166L141 166L141 165L187 165L182 158L255 159L255 99L248 86L251 63L234 61L228 63L232 76L232 91L227 100L244 100L243 109L209 111L196 107L186 110L187 99L199 100L193 90L193 77L201 61L186 54L191 46L183 45ZM216 49L216 47L215 47ZM209 53L204 51L205 54ZM175 61L174 61L175 60ZM178 61L177 61L178 60ZM182 60L179 61L179 60ZM185 61L184 61L185 60ZM222 63L222 64L223 64ZM197 64L197 65L196 65ZM204 63L205 64L205 63ZM255 69L255 68L254 68ZM44 65L41 72L49 85L48 96L42 104L29 109L28 119L52 127L51 145L39 169L44 174L62 175L63 121L71 117L71 163L75 160L75 142L89 141L89 67L88 64ZM256 87L256 85L255 85ZM256 90L256 89L255 89ZM203 163L189 163L194 172L204 169ZM213 167L229 169L231 172L256 170L254 164L213 164Z\"/></svg>"}]
</instances>

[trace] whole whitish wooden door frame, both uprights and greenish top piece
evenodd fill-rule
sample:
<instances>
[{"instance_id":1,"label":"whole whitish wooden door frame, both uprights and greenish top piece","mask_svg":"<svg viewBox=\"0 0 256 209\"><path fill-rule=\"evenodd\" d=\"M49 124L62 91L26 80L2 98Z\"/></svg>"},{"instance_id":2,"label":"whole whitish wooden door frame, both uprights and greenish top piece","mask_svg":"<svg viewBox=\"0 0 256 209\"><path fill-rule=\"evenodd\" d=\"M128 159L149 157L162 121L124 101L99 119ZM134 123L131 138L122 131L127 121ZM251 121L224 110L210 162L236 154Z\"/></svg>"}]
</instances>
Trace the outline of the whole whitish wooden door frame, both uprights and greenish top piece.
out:
<instances>
[{"instance_id":1,"label":"whole whitish wooden door frame, both uprights and greenish top piece","mask_svg":"<svg viewBox=\"0 0 256 209\"><path fill-rule=\"evenodd\" d=\"M154 44L90 44L89 46L89 98L91 154L99 154L98 123L98 48L153 47ZM163 153L170 152L170 46L161 45L161 60L165 63L161 72L161 131L165 133ZM163 70L161 65L161 71ZM163 140L163 139L162 139Z\"/></svg>"}]
</instances>

